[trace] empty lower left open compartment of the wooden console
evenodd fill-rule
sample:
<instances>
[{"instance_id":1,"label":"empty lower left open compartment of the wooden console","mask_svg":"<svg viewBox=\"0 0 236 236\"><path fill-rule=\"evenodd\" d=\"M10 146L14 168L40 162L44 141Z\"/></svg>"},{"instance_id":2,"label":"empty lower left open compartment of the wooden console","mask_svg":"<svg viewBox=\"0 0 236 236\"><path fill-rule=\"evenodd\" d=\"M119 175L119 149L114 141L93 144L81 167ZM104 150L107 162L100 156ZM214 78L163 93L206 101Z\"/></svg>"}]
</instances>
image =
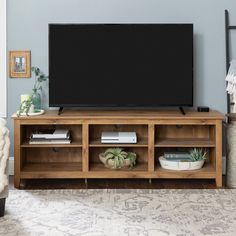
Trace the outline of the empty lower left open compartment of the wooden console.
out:
<instances>
[{"instance_id":1,"label":"empty lower left open compartment of the wooden console","mask_svg":"<svg viewBox=\"0 0 236 236\"><path fill-rule=\"evenodd\" d=\"M22 154L24 178L68 178L71 172L82 172L82 148L23 148Z\"/></svg>"}]
</instances>

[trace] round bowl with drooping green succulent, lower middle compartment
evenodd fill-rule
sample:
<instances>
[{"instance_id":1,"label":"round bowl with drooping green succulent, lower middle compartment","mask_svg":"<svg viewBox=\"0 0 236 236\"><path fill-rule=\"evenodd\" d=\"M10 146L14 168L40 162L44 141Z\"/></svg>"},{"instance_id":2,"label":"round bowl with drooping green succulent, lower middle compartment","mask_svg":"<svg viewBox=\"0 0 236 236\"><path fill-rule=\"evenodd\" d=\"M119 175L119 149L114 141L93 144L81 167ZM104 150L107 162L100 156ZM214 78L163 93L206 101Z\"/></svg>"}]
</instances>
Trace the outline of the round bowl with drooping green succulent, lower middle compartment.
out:
<instances>
[{"instance_id":1,"label":"round bowl with drooping green succulent, lower middle compartment","mask_svg":"<svg viewBox=\"0 0 236 236\"><path fill-rule=\"evenodd\" d=\"M100 161L111 169L132 168L136 164L136 153L125 152L123 148L108 148L99 154Z\"/></svg>"}]
</instances>

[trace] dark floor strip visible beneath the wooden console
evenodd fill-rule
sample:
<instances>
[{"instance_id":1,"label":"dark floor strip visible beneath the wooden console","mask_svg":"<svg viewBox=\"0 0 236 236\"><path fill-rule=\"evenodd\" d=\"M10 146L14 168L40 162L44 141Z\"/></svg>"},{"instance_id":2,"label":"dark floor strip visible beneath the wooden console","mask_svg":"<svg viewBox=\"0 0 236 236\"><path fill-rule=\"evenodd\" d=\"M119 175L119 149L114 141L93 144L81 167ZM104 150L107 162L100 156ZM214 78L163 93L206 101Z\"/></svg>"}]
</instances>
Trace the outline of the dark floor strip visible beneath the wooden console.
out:
<instances>
[{"instance_id":1,"label":"dark floor strip visible beneath the wooden console","mask_svg":"<svg viewBox=\"0 0 236 236\"><path fill-rule=\"evenodd\" d=\"M10 188L14 188L14 178L10 177ZM225 178L223 178L225 188ZM216 189L214 180L152 180L148 179L88 179L84 180L26 180L21 189Z\"/></svg>"}]
</instances>

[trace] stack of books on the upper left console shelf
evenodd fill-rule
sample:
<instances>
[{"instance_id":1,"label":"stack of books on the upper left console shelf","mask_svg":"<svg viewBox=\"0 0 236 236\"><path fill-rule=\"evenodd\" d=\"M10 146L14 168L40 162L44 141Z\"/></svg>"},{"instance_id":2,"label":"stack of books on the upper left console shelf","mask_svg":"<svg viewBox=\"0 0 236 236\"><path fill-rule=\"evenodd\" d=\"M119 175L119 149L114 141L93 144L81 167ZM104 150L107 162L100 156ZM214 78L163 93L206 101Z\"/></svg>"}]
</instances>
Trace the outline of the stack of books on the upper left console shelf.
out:
<instances>
[{"instance_id":1,"label":"stack of books on the upper left console shelf","mask_svg":"<svg viewBox=\"0 0 236 236\"><path fill-rule=\"evenodd\" d=\"M56 129L33 133L29 144L70 144L71 135L67 129Z\"/></svg>"}]
</instances>

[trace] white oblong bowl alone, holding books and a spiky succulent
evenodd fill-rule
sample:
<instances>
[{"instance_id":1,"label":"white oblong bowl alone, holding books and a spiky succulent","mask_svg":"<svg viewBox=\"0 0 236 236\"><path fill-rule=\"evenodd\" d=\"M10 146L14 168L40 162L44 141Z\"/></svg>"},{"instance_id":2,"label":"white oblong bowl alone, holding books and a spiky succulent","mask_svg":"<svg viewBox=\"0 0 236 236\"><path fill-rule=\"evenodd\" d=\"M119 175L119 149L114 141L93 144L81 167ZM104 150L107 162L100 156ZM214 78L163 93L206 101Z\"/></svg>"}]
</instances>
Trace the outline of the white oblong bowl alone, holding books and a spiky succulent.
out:
<instances>
[{"instance_id":1,"label":"white oblong bowl alone, holding books and a spiky succulent","mask_svg":"<svg viewBox=\"0 0 236 236\"><path fill-rule=\"evenodd\" d=\"M167 170L198 170L204 165L205 160L201 161L169 161L163 156L159 157L161 167Z\"/></svg>"}]
</instances>

